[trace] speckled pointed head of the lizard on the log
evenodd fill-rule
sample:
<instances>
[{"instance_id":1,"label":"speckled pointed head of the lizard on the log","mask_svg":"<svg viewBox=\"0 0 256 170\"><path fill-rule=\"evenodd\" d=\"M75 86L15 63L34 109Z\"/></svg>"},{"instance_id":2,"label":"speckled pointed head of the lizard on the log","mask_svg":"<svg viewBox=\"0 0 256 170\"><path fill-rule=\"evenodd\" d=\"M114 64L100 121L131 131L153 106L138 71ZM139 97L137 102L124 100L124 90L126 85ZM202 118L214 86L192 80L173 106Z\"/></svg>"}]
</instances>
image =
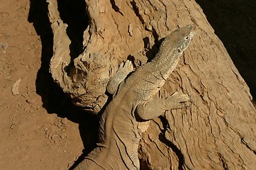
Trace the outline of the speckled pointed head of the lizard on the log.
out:
<instances>
[{"instance_id":1,"label":"speckled pointed head of the lizard on the log","mask_svg":"<svg viewBox=\"0 0 256 170\"><path fill-rule=\"evenodd\" d=\"M189 46L189 43L193 38L195 28L196 26L194 24L188 25L184 28L178 28L167 35L165 43L168 43L172 50L176 50L177 53L182 54L182 52L184 52L184 50Z\"/></svg>"}]
</instances>

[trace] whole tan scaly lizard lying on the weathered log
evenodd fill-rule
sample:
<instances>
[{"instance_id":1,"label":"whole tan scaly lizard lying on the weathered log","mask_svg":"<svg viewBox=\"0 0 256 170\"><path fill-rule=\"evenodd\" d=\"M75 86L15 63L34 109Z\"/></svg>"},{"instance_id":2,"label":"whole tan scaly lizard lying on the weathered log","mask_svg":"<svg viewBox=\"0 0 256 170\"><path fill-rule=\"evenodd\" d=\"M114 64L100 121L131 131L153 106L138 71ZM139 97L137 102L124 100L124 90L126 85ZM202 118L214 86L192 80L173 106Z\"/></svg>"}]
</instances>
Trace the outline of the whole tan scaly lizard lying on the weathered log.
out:
<instances>
[{"instance_id":1,"label":"whole tan scaly lizard lying on the weathered log","mask_svg":"<svg viewBox=\"0 0 256 170\"><path fill-rule=\"evenodd\" d=\"M106 86L113 98L100 118L99 142L74 170L140 169L138 146L149 120L165 111L184 108L190 100L189 95L180 92L166 98L152 98L177 67L194 30L192 24L172 31L162 41L157 55L135 72L130 60L121 64Z\"/></svg>"}]
</instances>

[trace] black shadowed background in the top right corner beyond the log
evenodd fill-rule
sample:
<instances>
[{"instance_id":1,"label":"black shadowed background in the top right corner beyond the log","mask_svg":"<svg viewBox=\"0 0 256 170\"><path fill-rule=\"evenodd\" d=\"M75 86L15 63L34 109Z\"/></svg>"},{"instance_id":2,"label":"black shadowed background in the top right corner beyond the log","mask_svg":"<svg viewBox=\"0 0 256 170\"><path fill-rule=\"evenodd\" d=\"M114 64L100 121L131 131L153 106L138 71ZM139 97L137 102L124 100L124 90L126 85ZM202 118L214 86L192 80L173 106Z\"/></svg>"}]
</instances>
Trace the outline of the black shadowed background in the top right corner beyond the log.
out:
<instances>
[{"instance_id":1,"label":"black shadowed background in the top right corner beyond the log","mask_svg":"<svg viewBox=\"0 0 256 170\"><path fill-rule=\"evenodd\" d=\"M256 1L196 0L256 98Z\"/></svg>"}]
</instances>

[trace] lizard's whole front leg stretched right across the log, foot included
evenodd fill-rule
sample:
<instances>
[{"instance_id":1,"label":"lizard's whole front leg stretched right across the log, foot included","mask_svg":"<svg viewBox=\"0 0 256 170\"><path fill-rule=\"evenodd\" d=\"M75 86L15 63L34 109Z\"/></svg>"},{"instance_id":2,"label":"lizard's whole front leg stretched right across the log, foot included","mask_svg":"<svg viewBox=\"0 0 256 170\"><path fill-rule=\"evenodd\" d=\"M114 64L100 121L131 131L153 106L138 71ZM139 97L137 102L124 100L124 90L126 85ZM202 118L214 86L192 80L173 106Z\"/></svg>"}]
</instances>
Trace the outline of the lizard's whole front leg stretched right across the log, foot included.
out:
<instances>
[{"instance_id":1,"label":"lizard's whole front leg stretched right across the log, foot included","mask_svg":"<svg viewBox=\"0 0 256 170\"><path fill-rule=\"evenodd\" d=\"M167 98L159 98L145 103L140 103L136 108L138 118L150 120L177 108L187 108L185 102L189 101L190 97L187 94L176 92Z\"/></svg>"}]
</instances>

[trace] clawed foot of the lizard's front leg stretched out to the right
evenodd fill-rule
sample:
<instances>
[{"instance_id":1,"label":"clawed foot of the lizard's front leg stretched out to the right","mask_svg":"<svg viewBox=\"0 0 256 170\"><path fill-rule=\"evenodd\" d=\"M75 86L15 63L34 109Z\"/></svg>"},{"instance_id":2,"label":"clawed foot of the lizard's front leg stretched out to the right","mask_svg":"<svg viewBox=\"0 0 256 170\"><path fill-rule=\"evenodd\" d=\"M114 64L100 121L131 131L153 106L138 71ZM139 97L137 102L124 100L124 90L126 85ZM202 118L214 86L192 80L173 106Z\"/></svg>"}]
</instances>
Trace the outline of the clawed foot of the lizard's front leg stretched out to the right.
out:
<instances>
[{"instance_id":1,"label":"clawed foot of the lizard's front leg stretched out to the right","mask_svg":"<svg viewBox=\"0 0 256 170\"><path fill-rule=\"evenodd\" d=\"M187 101L190 101L191 98L187 94L182 94L180 92L175 92L171 96L165 98L165 106L167 110L175 108L188 108Z\"/></svg>"}]
</instances>

